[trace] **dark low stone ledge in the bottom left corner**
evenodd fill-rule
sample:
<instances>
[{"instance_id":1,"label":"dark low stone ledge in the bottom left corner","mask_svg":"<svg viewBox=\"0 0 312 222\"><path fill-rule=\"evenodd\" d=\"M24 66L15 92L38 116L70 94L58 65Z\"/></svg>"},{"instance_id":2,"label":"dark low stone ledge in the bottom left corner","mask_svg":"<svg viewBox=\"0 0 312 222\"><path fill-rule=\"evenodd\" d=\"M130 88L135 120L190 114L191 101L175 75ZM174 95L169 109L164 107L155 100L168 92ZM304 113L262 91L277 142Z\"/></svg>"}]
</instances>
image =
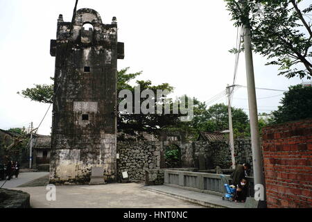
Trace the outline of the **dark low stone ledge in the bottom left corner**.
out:
<instances>
[{"instance_id":1,"label":"dark low stone ledge in the bottom left corner","mask_svg":"<svg viewBox=\"0 0 312 222\"><path fill-rule=\"evenodd\" d=\"M0 208L30 208L31 195L12 189L0 189Z\"/></svg>"}]
</instances>

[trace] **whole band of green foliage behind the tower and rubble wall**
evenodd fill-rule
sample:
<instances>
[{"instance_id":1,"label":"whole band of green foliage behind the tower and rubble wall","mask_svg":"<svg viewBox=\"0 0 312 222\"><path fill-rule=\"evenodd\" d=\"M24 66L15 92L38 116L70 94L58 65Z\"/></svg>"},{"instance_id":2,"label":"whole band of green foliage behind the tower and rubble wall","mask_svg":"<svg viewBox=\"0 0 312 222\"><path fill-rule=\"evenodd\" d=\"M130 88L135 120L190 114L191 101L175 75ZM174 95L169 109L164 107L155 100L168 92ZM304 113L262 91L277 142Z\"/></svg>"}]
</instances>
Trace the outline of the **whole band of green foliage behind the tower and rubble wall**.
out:
<instances>
[{"instance_id":1,"label":"whole band of green foliage behind the tower and rubble wall","mask_svg":"<svg viewBox=\"0 0 312 222\"><path fill-rule=\"evenodd\" d=\"M135 87L130 84L131 80L135 80L137 76L141 74L141 71L134 74L128 74L128 68L118 71L117 76L117 92L122 89L129 89L132 95L135 94ZM157 89L168 90L173 92L173 87L168 83L160 85L153 85L150 80L137 80L135 83L140 86L140 90L151 89L154 94L157 94ZM43 87L42 85L35 85L34 88L26 89L22 91L24 97L33 101L39 101L42 103L51 103L53 96L53 85L49 87ZM186 96L186 95L184 95ZM134 110L135 96L132 96L132 110ZM176 101L181 101L181 98L177 98ZM189 97L187 97L187 107L189 103ZM117 98L117 107L123 99ZM145 100L141 98L140 104ZM168 104L170 107L170 114L130 114L127 112L118 112L117 128L124 133L133 133L134 131L147 131L155 132L158 130L180 130L187 133L187 137L193 137L196 139L200 131L217 132L228 129L228 114L227 105L216 104L207 108L207 105L198 99L193 99L193 114L194 117L191 121L180 121L181 114L173 114L173 101L167 99L163 103ZM157 101L155 100L155 109L157 108ZM181 107L179 107L179 111ZM234 128L234 135L245 135L246 127L248 125L248 116L241 109L232 108L232 122Z\"/></svg>"}]
</instances>

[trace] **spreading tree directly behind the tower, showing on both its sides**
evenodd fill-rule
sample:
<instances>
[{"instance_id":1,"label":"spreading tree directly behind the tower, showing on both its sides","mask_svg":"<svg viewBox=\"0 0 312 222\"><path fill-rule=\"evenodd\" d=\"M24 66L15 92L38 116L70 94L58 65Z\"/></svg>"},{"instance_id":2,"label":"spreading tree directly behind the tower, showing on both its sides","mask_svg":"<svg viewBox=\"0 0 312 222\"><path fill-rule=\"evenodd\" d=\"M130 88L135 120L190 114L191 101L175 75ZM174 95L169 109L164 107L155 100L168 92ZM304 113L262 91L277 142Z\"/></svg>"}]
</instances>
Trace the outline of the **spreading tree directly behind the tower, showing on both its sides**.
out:
<instances>
[{"instance_id":1,"label":"spreading tree directly behind the tower, showing on both its sides","mask_svg":"<svg viewBox=\"0 0 312 222\"><path fill-rule=\"evenodd\" d=\"M117 74L117 96L122 89L129 89L132 95L135 93L135 87L130 85L130 81L141 75L141 71L134 74L127 74L129 68L121 69ZM51 78L53 80L53 78ZM168 92L173 92L173 87L168 83L160 85L152 85L150 80L137 80L137 85L140 86L141 92L144 89L151 89L155 95L157 89L166 89ZM19 92L17 92L19 94ZM40 103L53 103L53 84L51 85L35 85L33 88L27 88L21 91L21 94L32 101L38 101ZM133 96L134 97L134 96ZM117 107L123 99L117 98ZM145 99L141 99L141 102ZM155 104L156 104L155 100ZM168 101L171 103L172 101ZM133 106L135 103L132 103ZM156 108L156 105L155 105ZM118 112L117 128L123 130L126 133L133 133L134 130L156 131L165 126L174 125L178 121L179 115L177 114L128 114L124 112Z\"/></svg>"}]
</instances>

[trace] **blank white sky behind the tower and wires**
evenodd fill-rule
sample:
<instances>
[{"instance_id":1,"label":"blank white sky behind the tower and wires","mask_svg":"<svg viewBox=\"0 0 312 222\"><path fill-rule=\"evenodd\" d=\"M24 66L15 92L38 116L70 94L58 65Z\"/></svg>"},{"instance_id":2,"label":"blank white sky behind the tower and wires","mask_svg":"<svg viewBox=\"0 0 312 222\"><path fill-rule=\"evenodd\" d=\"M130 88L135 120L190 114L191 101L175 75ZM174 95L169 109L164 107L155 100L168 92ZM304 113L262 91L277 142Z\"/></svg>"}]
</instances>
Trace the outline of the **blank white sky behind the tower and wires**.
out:
<instances>
[{"instance_id":1,"label":"blank white sky behind the tower and wires","mask_svg":"<svg viewBox=\"0 0 312 222\"><path fill-rule=\"evenodd\" d=\"M37 127L49 104L24 99L17 94L33 84L51 84L55 58L50 56L50 40L55 39L58 15L71 22L74 0L0 0L0 128ZM200 101L232 85L236 28L222 0L80 0L78 8L93 8L103 23L116 16L119 42L125 42L125 58L118 69L143 71L138 79L153 84L169 83L175 96L187 94ZM288 89L302 83L277 76L277 67L264 66L266 59L254 55L257 87ZM236 84L245 83L245 60L239 61ZM259 98L282 92L257 90ZM237 98L237 99L236 99ZM247 89L234 94L236 108L248 108ZM259 112L276 110L281 96L259 99ZM225 103L224 99L218 102ZM248 113L248 110L245 110ZM38 133L51 132L51 110Z\"/></svg>"}]
</instances>

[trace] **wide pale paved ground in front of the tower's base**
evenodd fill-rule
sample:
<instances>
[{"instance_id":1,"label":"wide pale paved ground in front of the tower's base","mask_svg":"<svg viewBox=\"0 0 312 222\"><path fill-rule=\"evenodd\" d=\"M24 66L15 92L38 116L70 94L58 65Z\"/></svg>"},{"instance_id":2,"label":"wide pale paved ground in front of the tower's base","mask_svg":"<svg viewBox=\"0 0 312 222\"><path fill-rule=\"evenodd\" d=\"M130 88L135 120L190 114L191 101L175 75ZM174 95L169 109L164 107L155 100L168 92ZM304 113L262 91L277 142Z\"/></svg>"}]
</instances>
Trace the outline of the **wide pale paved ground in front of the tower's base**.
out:
<instances>
[{"instance_id":1,"label":"wide pale paved ground in front of the tower's base","mask_svg":"<svg viewBox=\"0 0 312 222\"><path fill-rule=\"evenodd\" d=\"M204 206L142 189L137 183L56 186L56 200L46 200L46 187L17 187L31 194L31 207L60 208L202 208Z\"/></svg>"}]
</instances>

